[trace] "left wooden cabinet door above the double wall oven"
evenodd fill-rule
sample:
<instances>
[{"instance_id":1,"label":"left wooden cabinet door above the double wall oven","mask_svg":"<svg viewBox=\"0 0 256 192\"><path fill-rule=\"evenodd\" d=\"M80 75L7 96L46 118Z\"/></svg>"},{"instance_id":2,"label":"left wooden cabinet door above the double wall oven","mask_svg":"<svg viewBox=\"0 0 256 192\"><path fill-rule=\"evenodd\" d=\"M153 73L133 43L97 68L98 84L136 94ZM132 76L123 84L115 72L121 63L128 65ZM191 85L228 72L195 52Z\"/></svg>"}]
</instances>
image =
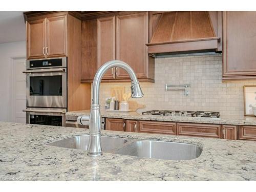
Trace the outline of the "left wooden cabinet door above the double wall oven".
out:
<instances>
[{"instance_id":1,"label":"left wooden cabinet door above the double wall oven","mask_svg":"<svg viewBox=\"0 0 256 192\"><path fill-rule=\"evenodd\" d=\"M27 27L27 58L44 58L46 45L46 18L26 22Z\"/></svg>"}]
</instances>

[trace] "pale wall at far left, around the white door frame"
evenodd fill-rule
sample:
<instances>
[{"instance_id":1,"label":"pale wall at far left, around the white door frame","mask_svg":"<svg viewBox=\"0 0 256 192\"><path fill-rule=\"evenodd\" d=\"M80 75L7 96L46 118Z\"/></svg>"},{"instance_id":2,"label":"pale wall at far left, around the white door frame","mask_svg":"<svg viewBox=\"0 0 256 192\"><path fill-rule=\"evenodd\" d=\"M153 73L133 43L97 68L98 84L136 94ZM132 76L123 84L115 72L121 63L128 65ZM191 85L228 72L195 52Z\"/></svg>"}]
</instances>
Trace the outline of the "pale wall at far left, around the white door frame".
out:
<instances>
[{"instance_id":1,"label":"pale wall at far left, around the white door frame","mask_svg":"<svg viewBox=\"0 0 256 192\"><path fill-rule=\"evenodd\" d=\"M11 121L11 66L18 57L26 57L26 41L0 44L0 121Z\"/></svg>"}]
</instances>

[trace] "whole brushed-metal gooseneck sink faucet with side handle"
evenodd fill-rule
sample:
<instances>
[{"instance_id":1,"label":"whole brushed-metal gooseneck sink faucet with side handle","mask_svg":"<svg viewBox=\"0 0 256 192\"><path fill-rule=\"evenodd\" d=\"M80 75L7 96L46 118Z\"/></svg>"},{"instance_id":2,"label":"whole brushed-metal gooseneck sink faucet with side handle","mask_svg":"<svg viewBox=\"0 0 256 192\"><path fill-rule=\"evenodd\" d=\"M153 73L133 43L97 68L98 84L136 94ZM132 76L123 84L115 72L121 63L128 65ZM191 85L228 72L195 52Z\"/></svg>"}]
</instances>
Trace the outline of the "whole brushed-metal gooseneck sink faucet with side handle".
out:
<instances>
[{"instance_id":1,"label":"whole brushed-metal gooseneck sink faucet with side handle","mask_svg":"<svg viewBox=\"0 0 256 192\"><path fill-rule=\"evenodd\" d=\"M101 115L100 115L100 105L99 105L99 86L100 81L105 74L105 72L111 68L119 67L124 69L130 76L132 85L132 98L143 97L143 93L140 88L139 81L133 71L133 69L127 65L127 63L120 60L111 60L106 62L103 66L99 68L94 79L92 87L92 104L90 115L80 115L77 118L77 122L80 125L89 125L90 129L90 139L89 146L87 150L87 155L92 157L97 157L102 155L101 147Z\"/></svg>"}]
</instances>

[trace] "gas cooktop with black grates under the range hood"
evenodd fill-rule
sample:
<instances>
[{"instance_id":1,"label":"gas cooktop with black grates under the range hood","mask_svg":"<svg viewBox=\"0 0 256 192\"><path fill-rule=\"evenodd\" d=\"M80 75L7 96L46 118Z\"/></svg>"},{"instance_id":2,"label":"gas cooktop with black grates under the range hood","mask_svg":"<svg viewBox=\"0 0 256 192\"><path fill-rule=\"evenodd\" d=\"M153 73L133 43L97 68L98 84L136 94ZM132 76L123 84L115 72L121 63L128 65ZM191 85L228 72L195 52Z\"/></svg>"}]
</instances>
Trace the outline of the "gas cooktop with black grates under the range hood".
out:
<instances>
[{"instance_id":1,"label":"gas cooktop with black grates under the range hood","mask_svg":"<svg viewBox=\"0 0 256 192\"><path fill-rule=\"evenodd\" d=\"M209 117L220 118L220 112L211 111L169 111L169 110L152 110L142 112L142 115L161 115L177 117Z\"/></svg>"}]
</instances>

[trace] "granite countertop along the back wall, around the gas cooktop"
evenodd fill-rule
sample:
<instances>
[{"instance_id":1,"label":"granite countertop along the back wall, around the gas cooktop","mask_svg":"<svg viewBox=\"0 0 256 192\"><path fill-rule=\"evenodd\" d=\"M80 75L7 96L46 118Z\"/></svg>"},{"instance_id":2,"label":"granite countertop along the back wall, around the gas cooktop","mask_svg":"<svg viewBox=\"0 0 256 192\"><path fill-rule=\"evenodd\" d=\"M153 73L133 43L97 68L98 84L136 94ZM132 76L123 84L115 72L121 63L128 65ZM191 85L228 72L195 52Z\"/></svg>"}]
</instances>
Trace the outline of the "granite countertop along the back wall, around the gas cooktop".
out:
<instances>
[{"instance_id":1,"label":"granite countertop along the back wall, around the gas cooktop","mask_svg":"<svg viewBox=\"0 0 256 192\"><path fill-rule=\"evenodd\" d=\"M90 110L67 112L66 116L89 115ZM256 125L256 117L246 117L243 119L228 118L206 118L206 117L173 117L157 115L141 115L136 112L107 112L101 110L101 116L106 118L121 118L134 120L152 120L152 121L174 121L190 123L210 123L210 124L229 124L229 125Z\"/></svg>"}]
</instances>

